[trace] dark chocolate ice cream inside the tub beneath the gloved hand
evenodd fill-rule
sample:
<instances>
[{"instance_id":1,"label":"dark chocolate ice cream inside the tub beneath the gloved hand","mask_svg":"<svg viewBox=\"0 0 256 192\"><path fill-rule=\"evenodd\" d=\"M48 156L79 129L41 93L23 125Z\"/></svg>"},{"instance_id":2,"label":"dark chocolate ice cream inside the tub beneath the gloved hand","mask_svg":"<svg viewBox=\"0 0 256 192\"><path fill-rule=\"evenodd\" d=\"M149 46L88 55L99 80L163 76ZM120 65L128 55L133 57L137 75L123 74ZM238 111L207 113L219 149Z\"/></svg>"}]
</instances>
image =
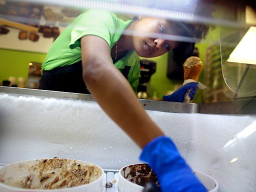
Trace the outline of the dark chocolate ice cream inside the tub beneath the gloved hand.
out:
<instances>
[{"instance_id":1,"label":"dark chocolate ice cream inside the tub beneath the gloved hand","mask_svg":"<svg viewBox=\"0 0 256 192\"><path fill-rule=\"evenodd\" d=\"M129 169L126 172L126 169ZM145 186L147 183L153 182L156 186L159 186L157 177L148 164L134 164L123 168L123 177L138 184Z\"/></svg>"}]
</instances>

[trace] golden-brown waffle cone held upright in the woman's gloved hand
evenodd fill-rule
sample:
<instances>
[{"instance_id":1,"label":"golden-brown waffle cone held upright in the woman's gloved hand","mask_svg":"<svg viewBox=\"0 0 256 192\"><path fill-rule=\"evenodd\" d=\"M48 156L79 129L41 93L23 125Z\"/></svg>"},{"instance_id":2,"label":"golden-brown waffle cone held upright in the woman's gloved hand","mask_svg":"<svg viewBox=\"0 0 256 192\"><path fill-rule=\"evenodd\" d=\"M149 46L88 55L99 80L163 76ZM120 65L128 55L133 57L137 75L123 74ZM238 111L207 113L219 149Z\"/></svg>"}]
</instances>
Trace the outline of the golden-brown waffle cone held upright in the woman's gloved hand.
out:
<instances>
[{"instance_id":1,"label":"golden-brown waffle cone held upright in the woman's gloved hand","mask_svg":"<svg viewBox=\"0 0 256 192\"><path fill-rule=\"evenodd\" d=\"M184 80L193 79L198 80L202 71L203 64L197 56L190 56L183 64Z\"/></svg>"}]
</instances>

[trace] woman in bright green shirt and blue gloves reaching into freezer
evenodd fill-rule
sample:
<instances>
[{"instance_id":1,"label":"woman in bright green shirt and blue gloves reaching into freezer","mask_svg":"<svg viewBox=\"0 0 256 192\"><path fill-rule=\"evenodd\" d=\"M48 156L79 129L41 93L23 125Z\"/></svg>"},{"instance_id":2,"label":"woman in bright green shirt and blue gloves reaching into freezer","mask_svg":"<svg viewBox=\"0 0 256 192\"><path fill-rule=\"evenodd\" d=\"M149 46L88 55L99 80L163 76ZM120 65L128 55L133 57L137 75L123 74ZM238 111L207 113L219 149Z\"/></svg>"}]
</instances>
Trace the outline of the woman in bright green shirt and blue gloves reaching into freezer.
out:
<instances>
[{"instance_id":1,"label":"woman in bright green shirt and blue gloves reaching into freezer","mask_svg":"<svg viewBox=\"0 0 256 192\"><path fill-rule=\"evenodd\" d=\"M138 55L154 57L172 50L176 55L189 56L193 43L157 36L192 37L193 31L188 28L161 18L123 21L107 11L89 10L60 34L42 64L39 88L89 91L112 120L143 148L140 159L153 168L162 191L206 190L171 139L164 136L137 100L134 91L140 76ZM174 95L184 97L186 90L196 85L185 85Z\"/></svg>"}]
</instances>

